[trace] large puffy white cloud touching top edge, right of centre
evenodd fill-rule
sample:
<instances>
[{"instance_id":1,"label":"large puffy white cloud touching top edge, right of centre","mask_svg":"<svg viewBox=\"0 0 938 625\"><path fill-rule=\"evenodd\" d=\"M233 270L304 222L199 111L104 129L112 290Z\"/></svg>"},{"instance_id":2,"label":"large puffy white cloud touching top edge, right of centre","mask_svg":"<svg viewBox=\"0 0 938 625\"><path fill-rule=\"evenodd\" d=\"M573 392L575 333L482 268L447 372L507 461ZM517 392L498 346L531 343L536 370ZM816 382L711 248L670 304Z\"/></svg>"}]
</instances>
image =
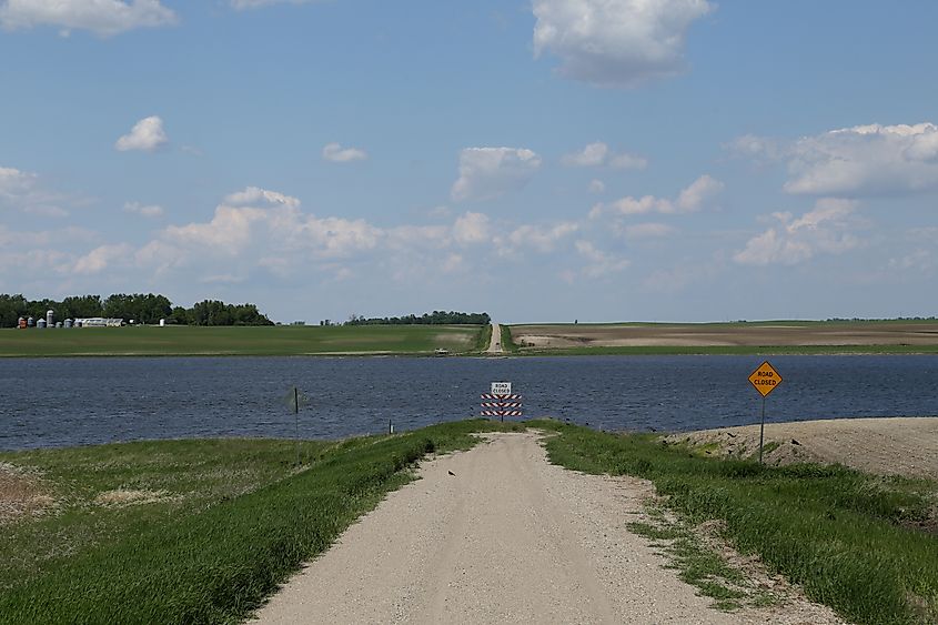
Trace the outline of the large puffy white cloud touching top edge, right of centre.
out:
<instances>
[{"instance_id":1,"label":"large puffy white cloud touching top edge, right of centre","mask_svg":"<svg viewBox=\"0 0 938 625\"><path fill-rule=\"evenodd\" d=\"M598 87L637 87L680 73L706 0L534 0L534 56L561 60L561 75Z\"/></svg>"}]
</instances>

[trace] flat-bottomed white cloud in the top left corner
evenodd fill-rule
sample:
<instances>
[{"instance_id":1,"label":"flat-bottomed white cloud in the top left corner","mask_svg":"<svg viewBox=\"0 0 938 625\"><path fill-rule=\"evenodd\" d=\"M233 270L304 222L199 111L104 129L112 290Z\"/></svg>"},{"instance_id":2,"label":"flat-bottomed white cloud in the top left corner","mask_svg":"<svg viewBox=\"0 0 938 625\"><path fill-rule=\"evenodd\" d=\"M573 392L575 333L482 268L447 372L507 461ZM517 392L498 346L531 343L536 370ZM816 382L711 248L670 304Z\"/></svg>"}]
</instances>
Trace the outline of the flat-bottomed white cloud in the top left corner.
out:
<instances>
[{"instance_id":1,"label":"flat-bottomed white cloud in the top left corner","mask_svg":"<svg viewBox=\"0 0 938 625\"><path fill-rule=\"evenodd\" d=\"M159 0L7 0L0 4L0 26L6 30L50 26L88 30L111 37L138 28L172 26L176 14Z\"/></svg>"}]
</instances>

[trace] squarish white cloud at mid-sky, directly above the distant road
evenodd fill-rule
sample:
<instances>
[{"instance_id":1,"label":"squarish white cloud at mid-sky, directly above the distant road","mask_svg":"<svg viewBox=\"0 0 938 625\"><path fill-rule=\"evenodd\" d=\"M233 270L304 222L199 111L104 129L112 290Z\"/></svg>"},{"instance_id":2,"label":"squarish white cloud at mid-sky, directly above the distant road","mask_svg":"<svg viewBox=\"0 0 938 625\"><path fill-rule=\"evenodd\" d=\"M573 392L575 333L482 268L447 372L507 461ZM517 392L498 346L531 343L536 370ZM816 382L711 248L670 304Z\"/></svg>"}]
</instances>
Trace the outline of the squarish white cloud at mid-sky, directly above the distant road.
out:
<instances>
[{"instance_id":1,"label":"squarish white cloud at mid-sky, directly above the distant road","mask_svg":"<svg viewBox=\"0 0 938 625\"><path fill-rule=\"evenodd\" d=\"M466 148L460 152L454 202L493 200L523 189L541 168L541 157L524 148Z\"/></svg>"}]
</instances>

